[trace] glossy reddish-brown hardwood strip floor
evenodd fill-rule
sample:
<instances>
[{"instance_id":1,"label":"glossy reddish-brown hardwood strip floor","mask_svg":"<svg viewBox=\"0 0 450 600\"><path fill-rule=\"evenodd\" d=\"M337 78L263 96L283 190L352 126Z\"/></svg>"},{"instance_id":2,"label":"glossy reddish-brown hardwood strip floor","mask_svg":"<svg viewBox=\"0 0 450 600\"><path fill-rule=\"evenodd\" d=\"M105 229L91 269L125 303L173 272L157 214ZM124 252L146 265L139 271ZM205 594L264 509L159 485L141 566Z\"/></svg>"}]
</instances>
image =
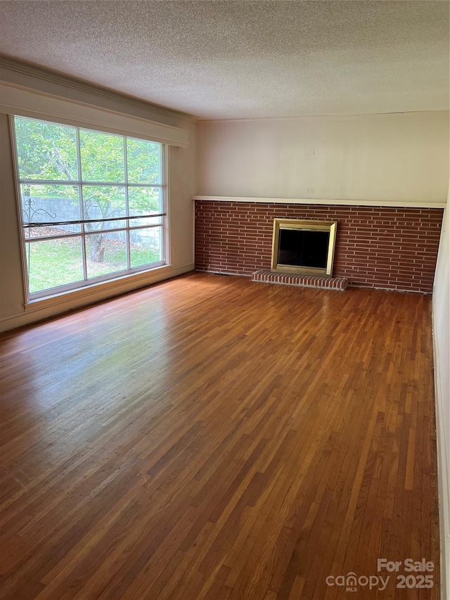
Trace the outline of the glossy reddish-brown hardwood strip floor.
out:
<instances>
[{"instance_id":1,"label":"glossy reddish-brown hardwood strip floor","mask_svg":"<svg viewBox=\"0 0 450 600\"><path fill-rule=\"evenodd\" d=\"M0 359L2 598L439 597L429 297L191 274Z\"/></svg>"}]
</instances>

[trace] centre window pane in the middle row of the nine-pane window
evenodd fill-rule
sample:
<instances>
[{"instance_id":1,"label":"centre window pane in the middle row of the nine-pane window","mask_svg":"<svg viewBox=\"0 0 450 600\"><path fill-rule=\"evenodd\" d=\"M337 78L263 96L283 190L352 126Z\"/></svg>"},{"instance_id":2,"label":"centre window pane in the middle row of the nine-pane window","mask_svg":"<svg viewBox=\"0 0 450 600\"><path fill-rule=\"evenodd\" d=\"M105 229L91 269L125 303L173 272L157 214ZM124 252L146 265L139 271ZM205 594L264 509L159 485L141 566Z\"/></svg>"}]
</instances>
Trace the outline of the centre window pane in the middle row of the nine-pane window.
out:
<instances>
[{"instance_id":1,"label":"centre window pane in the middle row of the nine-pane window","mask_svg":"<svg viewBox=\"0 0 450 600\"><path fill-rule=\"evenodd\" d=\"M127 214L125 189L115 186L83 186L84 219L111 219ZM86 224L86 231L89 229Z\"/></svg>"}]
</instances>

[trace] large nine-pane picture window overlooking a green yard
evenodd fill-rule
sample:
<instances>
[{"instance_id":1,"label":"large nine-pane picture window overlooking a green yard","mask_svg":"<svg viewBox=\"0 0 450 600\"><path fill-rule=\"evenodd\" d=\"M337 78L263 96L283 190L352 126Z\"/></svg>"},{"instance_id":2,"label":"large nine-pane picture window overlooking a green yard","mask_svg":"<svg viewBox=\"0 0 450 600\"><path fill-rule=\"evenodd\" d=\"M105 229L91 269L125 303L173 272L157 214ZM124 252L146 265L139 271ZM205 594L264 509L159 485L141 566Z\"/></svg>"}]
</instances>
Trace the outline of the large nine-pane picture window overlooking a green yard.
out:
<instances>
[{"instance_id":1,"label":"large nine-pane picture window overlooking a green yard","mask_svg":"<svg viewBox=\"0 0 450 600\"><path fill-rule=\"evenodd\" d=\"M13 124L31 299L165 264L161 143Z\"/></svg>"}]
</instances>

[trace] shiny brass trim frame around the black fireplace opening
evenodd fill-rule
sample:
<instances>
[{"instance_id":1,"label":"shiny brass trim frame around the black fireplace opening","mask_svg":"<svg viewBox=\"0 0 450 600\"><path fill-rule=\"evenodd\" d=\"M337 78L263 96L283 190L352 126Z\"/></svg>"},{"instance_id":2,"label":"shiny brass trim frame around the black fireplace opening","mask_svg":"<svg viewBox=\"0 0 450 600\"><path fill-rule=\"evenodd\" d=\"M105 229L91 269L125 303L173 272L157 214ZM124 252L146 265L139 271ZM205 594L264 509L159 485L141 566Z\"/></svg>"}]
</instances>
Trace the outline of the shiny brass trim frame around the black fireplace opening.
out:
<instances>
[{"instance_id":1,"label":"shiny brass trim frame around the black fireplace opening","mask_svg":"<svg viewBox=\"0 0 450 600\"><path fill-rule=\"evenodd\" d=\"M278 259L278 238L280 229L303 229L304 231L329 231L328 257L326 269L314 267L293 267L291 264L281 264ZM333 261L335 257L337 221L313 221L309 219L274 219L274 234L272 236L271 270L282 273L296 273L300 275L333 276Z\"/></svg>"}]
</instances>

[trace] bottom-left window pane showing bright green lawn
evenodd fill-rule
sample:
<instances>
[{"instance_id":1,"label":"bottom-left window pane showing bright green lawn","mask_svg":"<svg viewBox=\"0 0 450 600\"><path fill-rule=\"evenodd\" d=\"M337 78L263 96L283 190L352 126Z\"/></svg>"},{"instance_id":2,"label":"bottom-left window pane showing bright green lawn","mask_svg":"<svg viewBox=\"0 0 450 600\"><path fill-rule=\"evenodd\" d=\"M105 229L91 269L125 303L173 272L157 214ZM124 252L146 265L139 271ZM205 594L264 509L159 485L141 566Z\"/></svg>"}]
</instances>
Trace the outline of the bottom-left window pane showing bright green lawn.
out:
<instances>
[{"instance_id":1,"label":"bottom-left window pane showing bright green lawn","mask_svg":"<svg viewBox=\"0 0 450 600\"><path fill-rule=\"evenodd\" d=\"M83 279L82 238L74 236L25 244L30 293Z\"/></svg>"}]
</instances>

